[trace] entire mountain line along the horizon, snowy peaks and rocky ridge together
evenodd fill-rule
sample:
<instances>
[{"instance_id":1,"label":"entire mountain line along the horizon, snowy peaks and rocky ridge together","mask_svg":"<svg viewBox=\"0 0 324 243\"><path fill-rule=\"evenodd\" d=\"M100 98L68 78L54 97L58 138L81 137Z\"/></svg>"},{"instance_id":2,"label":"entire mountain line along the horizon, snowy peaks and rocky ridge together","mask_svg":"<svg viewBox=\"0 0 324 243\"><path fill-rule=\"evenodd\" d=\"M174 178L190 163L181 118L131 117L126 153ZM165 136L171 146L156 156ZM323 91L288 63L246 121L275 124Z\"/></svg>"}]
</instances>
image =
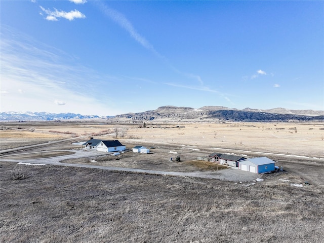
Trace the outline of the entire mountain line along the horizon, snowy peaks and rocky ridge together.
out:
<instances>
[{"instance_id":1,"label":"entire mountain line along the horizon, snowy peaks and rocky ridge together","mask_svg":"<svg viewBox=\"0 0 324 243\"><path fill-rule=\"evenodd\" d=\"M80 115L74 113L47 112L1 112L0 120L52 121L72 119L105 119L107 122L141 123L152 122L289 122L324 121L324 111L270 110L245 108L243 110L227 107L205 106L199 109L190 107L164 106L153 111L127 113L116 116Z\"/></svg>"}]
</instances>

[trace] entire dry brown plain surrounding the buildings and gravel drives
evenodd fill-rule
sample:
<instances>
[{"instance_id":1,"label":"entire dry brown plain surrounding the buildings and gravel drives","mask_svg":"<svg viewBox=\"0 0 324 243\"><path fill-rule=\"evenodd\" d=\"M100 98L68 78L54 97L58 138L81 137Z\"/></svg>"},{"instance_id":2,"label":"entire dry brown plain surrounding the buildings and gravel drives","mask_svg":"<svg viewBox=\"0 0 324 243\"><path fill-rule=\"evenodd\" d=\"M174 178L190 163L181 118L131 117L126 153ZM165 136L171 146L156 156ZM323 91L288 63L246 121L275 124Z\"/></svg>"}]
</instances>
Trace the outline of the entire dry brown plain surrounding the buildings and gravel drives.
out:
<instances>
[{"instance_id":1,"label":"entire dry brown plain surrounding the buildings and gravel drives","mask_svg":"<svg viewBox=\"0 0 324 243\"><path fill-rule=\"evenodd\" d=\"M7 128L0 131L1 150L68 137L86 141L93 135L111 140L117 129L117 139L127 148L144 145L152 152L127 152L120 157L100 154L64 163L208 172L221 167L197 157L212 152L256 157L261 156L258 152L267 152L262 156L285 168L257 175L261 182L239 183L235 178L156 176L2 160L1 242L322 242L323 124L1 125ZM80 147L71 142L49 144L1 158L28 162L66 155L60 150ZM169 151L178 152L182 161L168 162L176 157ZM228 175L230 169L224 171ZM306 180L310 185L304 185Z\"/></svg>"}]
</instances>

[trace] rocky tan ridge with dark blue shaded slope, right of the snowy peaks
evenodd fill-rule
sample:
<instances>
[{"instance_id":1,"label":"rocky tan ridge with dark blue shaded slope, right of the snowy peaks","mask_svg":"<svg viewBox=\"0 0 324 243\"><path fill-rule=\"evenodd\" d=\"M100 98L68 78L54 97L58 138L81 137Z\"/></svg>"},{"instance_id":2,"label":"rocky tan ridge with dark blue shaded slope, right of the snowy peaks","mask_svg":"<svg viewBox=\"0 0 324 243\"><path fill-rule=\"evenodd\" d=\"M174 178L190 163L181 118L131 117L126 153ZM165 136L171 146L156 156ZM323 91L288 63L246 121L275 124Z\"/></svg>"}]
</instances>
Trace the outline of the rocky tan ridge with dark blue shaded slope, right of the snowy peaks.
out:
<instances>
[{"instance_id":1,"label":"rocky tan ridge with dark blue shaded slope, right of the snowy peaks","mask_svg":"<svg viewBox=\"0 0 324 243\"><path fill-rule=\"evenodd\" d=\"M127 113L109 118L109 122L137 123L152 122L289 122L289 121L323 121L324 111L288 110L275 108L271 110L230 109L227 107L205 106L199 109L190 107L164 106L154 111Z\"/></svg>"}]
</instances>

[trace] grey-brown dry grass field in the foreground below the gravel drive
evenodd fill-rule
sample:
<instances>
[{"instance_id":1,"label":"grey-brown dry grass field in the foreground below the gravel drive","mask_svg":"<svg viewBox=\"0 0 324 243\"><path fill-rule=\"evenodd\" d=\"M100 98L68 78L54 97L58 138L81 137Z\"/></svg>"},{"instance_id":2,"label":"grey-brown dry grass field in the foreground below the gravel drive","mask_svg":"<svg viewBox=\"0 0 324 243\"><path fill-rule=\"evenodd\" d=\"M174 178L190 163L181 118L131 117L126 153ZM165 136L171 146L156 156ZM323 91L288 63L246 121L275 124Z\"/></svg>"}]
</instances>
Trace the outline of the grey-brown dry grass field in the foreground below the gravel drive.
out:
<instances>
[{"instance_id":1,"label":"grey-brown dry grass field in the foreground below the gravel drive","mask_svg":"<svg viewBox=\"0 0 324 243\"><path fill-rule=\"evenodd\" d=\"M15 180L20 168L26 179ZM322 242L324 192L2 162L1 242ZM251 183L253 184L253 183Z\"/></svg>"}]
</instances>

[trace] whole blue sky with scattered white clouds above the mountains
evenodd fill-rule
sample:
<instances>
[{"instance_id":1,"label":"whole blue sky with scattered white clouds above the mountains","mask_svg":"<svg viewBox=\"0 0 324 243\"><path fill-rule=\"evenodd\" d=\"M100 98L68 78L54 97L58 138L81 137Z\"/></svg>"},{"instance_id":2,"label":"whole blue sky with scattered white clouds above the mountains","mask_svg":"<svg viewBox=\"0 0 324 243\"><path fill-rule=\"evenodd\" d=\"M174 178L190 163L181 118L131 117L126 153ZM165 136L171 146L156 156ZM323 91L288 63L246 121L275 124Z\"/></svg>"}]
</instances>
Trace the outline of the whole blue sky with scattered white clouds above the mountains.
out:
<instances>
[{"instance_id":1,"label":"whole blue sky with scattered white clouds above the mountains","mask_svg":"<svg viewBox=\"0 0 324 243\"><path fill-rule=\"evenodd\" d=\"M0 1L1 111L324 110L323 1Z\"/></svg>"}]
</instances>

